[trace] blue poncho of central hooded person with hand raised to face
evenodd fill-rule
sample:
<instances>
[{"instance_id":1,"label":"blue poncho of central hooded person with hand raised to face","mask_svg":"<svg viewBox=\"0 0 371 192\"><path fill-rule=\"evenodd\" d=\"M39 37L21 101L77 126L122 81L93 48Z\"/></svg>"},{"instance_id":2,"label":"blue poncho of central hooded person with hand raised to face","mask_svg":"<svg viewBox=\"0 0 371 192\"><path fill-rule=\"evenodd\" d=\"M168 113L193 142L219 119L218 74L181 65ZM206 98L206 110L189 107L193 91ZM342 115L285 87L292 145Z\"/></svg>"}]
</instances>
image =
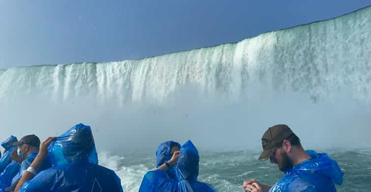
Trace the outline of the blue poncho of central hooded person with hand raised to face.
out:
<instances>
[{"instance_id":1,"label":"blue poncho of central hooded person with hand raised to face","mask_svg":"<svg viewBox=\"0 0 371 192\"><path fill-rule=\"evenodd\" d=\"M181 145L174 141L166 141L161 143L156 151L156 167L163 165L166 161L170 160L171 157L171 148L173 146L177 146L179 149ZM166 171L166 175L171 179L176 179L177 176L175 174L175 167L172 166Z\"/></svg>"}]
</instances>

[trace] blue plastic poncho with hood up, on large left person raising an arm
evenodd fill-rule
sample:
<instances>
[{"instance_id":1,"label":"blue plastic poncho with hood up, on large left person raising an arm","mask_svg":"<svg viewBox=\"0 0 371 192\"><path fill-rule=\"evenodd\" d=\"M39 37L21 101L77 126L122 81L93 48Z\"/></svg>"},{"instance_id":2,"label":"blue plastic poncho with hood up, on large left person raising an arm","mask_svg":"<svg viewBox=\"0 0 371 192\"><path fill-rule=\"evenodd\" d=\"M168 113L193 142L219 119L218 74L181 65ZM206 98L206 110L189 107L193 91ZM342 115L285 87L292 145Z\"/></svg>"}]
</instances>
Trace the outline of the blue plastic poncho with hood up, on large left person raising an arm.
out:
<instances>
[{"instance_id":1,"label":"blue plastic poncho with hood up, on large left person raising an arm","mask_svg":"<svg viewBox=\"0 0 371 192\"><path fill-rule=\"evenodd\" d=\"M92 129L78 124L48 148L52 168L25 182L20 192L123 192L113 170L97 165Z\"/></svg>"}]
</instances>

